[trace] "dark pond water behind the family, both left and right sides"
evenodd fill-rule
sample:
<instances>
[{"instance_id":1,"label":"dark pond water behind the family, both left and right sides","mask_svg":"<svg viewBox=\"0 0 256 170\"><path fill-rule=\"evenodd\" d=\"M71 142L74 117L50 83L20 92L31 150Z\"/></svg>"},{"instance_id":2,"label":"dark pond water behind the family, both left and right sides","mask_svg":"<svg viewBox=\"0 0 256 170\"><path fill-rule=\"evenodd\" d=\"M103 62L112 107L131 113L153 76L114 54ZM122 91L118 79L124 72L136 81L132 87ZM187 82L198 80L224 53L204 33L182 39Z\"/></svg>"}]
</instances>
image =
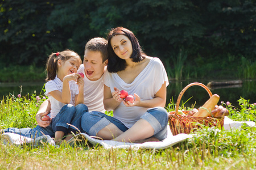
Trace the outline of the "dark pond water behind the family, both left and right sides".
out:
<instances>
[{"instance_id":1,"label":"dark pond water behind the family, both left and right sides","mask_svg":"<svg viewBox=\"0 0 256 170\"><path fill-rule=\"evenodd\" d=\"M224 81L224 80L216 80ZM170 81L169 86L167 87L167 103L170 103L172 100L173 103L176 103L177 97L179 96L181 90L189 83L200 82L207 84L210 80L185 80L185 81ZM42 88L45 82L26 82L26 83L0 83L0 99L3 97L9 96L10 94L17 97L20 94L20 87L22 87L22 96L27 94L36 95L43 94ZM250 103L256 103L256 80L243 80L242 84L235 86L224 86L211 88L210 91L212 94L217 94L220 96L220 101L229 101L235 107L239 107L237 100L242 96L244 99L250 99ZM192 98L191 98L192 97ZM191 98L191 99L189 99ZM189 99L189 100L188 100ZM192 104L195 104L195 108L199 108L209 99L208 92L200 86L192 86L185 91L181 101L185 103L186 107L191 107ZM218 105L220 105L220 101ZM180 103L181 105L182 103Z\"/></svg>"}]
</instances>

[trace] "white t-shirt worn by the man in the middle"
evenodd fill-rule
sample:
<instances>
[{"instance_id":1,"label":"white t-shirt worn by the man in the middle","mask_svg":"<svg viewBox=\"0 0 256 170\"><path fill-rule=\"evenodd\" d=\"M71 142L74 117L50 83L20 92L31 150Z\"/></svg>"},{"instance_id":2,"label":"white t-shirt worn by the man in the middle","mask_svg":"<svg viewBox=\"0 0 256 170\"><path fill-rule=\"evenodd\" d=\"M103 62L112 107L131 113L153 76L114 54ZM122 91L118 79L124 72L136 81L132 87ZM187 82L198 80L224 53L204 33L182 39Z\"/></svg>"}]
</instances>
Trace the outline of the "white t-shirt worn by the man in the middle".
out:
<instances>
[{"instance_id":1,"label":"white t-shirt worn by the man in the middle","mask_svg":"<svg viewBox=\"0 0 256 170\"><path fill-rule=\"evenodd\" d=\"M106 70L106 68L105 68ZM104 75L96 81L91 81L86 77L84 72L84 65L80 65L77 73L83 73L84 76L84 104L88 107L89 111L98 111L105 113L103 104L103 90L104 90Z\"/></svg>"}]
</instances>

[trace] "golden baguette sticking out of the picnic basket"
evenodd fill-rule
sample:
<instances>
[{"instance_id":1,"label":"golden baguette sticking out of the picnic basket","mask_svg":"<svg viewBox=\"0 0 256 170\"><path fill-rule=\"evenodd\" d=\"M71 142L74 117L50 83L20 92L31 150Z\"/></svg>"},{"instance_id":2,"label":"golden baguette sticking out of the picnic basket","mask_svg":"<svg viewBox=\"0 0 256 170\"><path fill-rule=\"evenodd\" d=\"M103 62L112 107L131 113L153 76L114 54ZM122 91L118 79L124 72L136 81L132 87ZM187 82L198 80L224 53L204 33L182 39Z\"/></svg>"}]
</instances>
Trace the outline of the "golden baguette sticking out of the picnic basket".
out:
<instances>
[{"instance_id":1,"label":"golden baguette sticking out of the picnic basket","mask_svg":"<svg viewBox=\"0 0 256 170\"><path fill-rule=\"evenodd\" d=\"M215 105L218 103L218 100L220 100L220 96L217 94L212 95L205 104L199 108L199 111L195 114L193 114L193 117L208 117L210 116L210 113L213 111Z\"/></svg>"}]
</instances>

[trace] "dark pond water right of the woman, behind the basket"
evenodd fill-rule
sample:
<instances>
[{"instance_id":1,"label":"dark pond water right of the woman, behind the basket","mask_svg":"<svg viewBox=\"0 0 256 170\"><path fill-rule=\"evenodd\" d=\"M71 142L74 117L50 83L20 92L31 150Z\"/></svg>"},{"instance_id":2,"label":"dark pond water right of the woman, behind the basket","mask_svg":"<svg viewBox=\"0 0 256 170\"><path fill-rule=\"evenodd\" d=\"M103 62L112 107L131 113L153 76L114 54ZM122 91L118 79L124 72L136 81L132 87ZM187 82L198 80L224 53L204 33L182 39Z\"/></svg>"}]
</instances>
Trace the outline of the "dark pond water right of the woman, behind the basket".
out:
<instances>
[{"instance_id":1,"label":"dark pond water right of the woman, behind the basket","mask_svg":"<svg viewBox=\"0 0 256 170\"><path fill-rule=\"evenodd\" d=\"M224 80L216 80L216 81L224 81ZM189 80L184 82L170 82L167 87L167 103L170 103L170 100L174 100L174 103L177 101L177 97L180 92L183 90L185 86L189 83L200 82L205 85L209 82L209 80ZM249 103L256 103L256 80L243 80L242 84L236 84L233 86L216 86L210 88L212 94L217 94L220 96L220 101L218 105L220 105L221 101L229 101L233 106L240 108L238 104L238 99L243 97L243 99L250 99ZM192 97L191 99L189 99ZM192 104L195 104L195 108L199 108L202 106L205 101L209 99L208 92L200 86L191 86L185 92L181 98L181 101L185 103L185 107L191 107ZM180 104L181 105L181 104Z\"/></svg>"}]
</instances>

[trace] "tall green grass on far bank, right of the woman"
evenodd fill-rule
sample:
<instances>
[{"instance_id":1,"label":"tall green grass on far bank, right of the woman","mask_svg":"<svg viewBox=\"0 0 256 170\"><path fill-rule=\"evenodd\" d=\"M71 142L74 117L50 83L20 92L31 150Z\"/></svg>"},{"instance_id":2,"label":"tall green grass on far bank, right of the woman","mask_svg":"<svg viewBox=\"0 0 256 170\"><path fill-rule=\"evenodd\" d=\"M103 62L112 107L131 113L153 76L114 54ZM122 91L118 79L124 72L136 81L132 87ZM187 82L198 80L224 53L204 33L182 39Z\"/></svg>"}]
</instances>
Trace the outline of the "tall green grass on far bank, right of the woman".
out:
<instances>
[{"instance_id":1,"label":"tall green grass on far bank, right of the woman","mask_svg":"<svg viewBox=\"0 0 256 170\"><path fill-rule=\"evenodd\" d=\"M191 57L195 59L191 59ZM241 58L241 59L236 59ZM218 61L218 62L217 62ZM256 61L243 56L188 56L181 50L163 59L169 79L255 79Z\"/></svg>"}]
</instances>

